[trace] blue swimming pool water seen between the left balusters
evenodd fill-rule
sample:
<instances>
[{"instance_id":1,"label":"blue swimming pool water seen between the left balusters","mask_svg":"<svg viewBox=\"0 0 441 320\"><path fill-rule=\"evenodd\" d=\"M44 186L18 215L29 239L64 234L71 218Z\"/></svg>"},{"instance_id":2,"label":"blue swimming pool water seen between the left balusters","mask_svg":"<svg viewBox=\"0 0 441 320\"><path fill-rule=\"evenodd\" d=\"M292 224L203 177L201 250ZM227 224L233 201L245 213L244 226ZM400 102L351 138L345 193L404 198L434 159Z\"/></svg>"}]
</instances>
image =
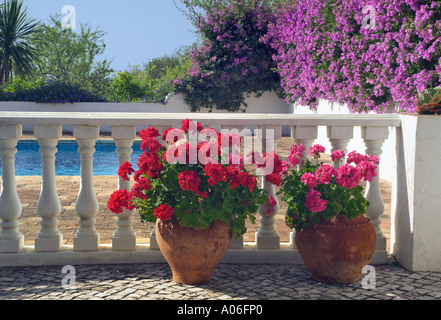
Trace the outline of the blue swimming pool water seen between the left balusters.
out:
<instances>
[{"instance_id":1,"label":"blue swimming pool water seen between the left balusters","mask_svg":"<svg viewBox=\"0 0 441 320\"><path fill-rule=\"evenodd\" d=\"M140 150L140 141L133 145L132 163L136 170L138 158L143 153ZM80 154L78 144L74 140L61 140L55 155L55 174L57 176L79 176ZM93 173L97 176L118 174L118 155L112 140L98 140L95 145L96 152L93 159ZM17 144L15 172L17 176L40 176L42 163L40 146L36 140L21 140ZM1 163L0 163L1 174Z\"/></svg>"}]
</instances>

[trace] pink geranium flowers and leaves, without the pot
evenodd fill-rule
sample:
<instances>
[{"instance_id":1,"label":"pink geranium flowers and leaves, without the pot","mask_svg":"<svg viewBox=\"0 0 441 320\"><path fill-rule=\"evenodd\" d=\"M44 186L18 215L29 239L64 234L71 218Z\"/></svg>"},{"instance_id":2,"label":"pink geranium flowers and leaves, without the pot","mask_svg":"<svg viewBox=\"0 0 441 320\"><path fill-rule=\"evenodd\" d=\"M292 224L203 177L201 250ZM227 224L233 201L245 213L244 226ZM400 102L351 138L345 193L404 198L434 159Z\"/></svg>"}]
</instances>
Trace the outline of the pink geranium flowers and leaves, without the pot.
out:
<instances>
[{"instance_id":1,"label":"pink geranium flowers and leaves, without the pot","mask_svg":"<svg viewBox=\"0 0 441 320\"><path fill-rule=\"evenodd\" d=\"M309 149L311 160L303 156L304 150L302 144L291 147L289 162L293 169L284 177L279 191L288 205L287 226L301 231L309 224L328 221L339 214L352 220L366 213L370 203L362 194L360 182L372 181L377 175L378 158L355 151L347 156L341 150L334 151L332 160L344 162L335 169L320 161L326 151L323 146Z\"/></svg>"}]
</instances>

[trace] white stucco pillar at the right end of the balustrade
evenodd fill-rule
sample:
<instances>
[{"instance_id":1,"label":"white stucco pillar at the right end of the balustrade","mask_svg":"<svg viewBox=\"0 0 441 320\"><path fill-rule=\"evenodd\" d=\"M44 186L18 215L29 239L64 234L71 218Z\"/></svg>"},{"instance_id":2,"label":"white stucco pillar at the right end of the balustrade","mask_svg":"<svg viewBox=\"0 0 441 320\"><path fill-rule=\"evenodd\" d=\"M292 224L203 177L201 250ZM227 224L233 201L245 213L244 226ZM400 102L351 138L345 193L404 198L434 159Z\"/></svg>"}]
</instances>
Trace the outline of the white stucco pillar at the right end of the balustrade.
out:
<instances>
[{"instance_id":1,"label":"white stucco pillar at the right end of the balustrade","mask_svg":"<svg viewBox=\"0 0 441 320\"><path fill-rule=\"evenodd\" d=\"M391 249L409 270L441 272L441 118L400 117Z\"/></svg>"}]
</instances>

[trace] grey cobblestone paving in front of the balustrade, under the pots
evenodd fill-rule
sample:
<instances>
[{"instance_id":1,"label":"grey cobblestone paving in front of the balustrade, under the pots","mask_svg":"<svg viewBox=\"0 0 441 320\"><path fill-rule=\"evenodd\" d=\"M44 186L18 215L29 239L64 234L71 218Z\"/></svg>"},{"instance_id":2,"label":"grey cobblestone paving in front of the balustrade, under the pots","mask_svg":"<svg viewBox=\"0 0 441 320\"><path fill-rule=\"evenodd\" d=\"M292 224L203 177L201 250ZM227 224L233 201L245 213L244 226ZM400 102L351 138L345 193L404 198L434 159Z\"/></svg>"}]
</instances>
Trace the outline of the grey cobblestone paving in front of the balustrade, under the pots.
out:
<instances>
[{"instance_id":1,"label":"grey cobblestone paving in front of the balustrade, under the pots","mask_svg":"<svg viewBox=\"0 0 441 320\"><path fill-rule=\"evenodd\" d=\"M375 281L314 281L303 265L222 264L209 284L182 285L167 264L0 268L0 300L441 300L441 273L377 266ZM367 273L367 276L373 273ZM373 288L372 286L375 286Z\"/></svg>"}]
</instances>

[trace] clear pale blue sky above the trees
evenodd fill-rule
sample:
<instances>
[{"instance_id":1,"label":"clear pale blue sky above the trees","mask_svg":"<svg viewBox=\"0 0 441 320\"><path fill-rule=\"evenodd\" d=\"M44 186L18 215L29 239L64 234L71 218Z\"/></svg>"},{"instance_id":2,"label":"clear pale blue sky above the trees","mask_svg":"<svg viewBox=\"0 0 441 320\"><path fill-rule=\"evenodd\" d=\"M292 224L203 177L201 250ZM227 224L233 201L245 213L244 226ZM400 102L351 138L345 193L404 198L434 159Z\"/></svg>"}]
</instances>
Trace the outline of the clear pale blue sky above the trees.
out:
<instances>
[{"instance_id":1,"label":"clear pale blue sky above the trees","mask_svg":"<svg viewBox=\"0 0 441 320\"><path fill-rule=\"evenodd\" d=\"M63 8L72 6L76 31L82 23L107 33L103 57L112 61L115 71L142 66L197 42L195 28L173 0L23 0L23 4L30 17L42 22L57 14L67 21L73 11L63 13Z\"/></svg>"}]
</instances>

